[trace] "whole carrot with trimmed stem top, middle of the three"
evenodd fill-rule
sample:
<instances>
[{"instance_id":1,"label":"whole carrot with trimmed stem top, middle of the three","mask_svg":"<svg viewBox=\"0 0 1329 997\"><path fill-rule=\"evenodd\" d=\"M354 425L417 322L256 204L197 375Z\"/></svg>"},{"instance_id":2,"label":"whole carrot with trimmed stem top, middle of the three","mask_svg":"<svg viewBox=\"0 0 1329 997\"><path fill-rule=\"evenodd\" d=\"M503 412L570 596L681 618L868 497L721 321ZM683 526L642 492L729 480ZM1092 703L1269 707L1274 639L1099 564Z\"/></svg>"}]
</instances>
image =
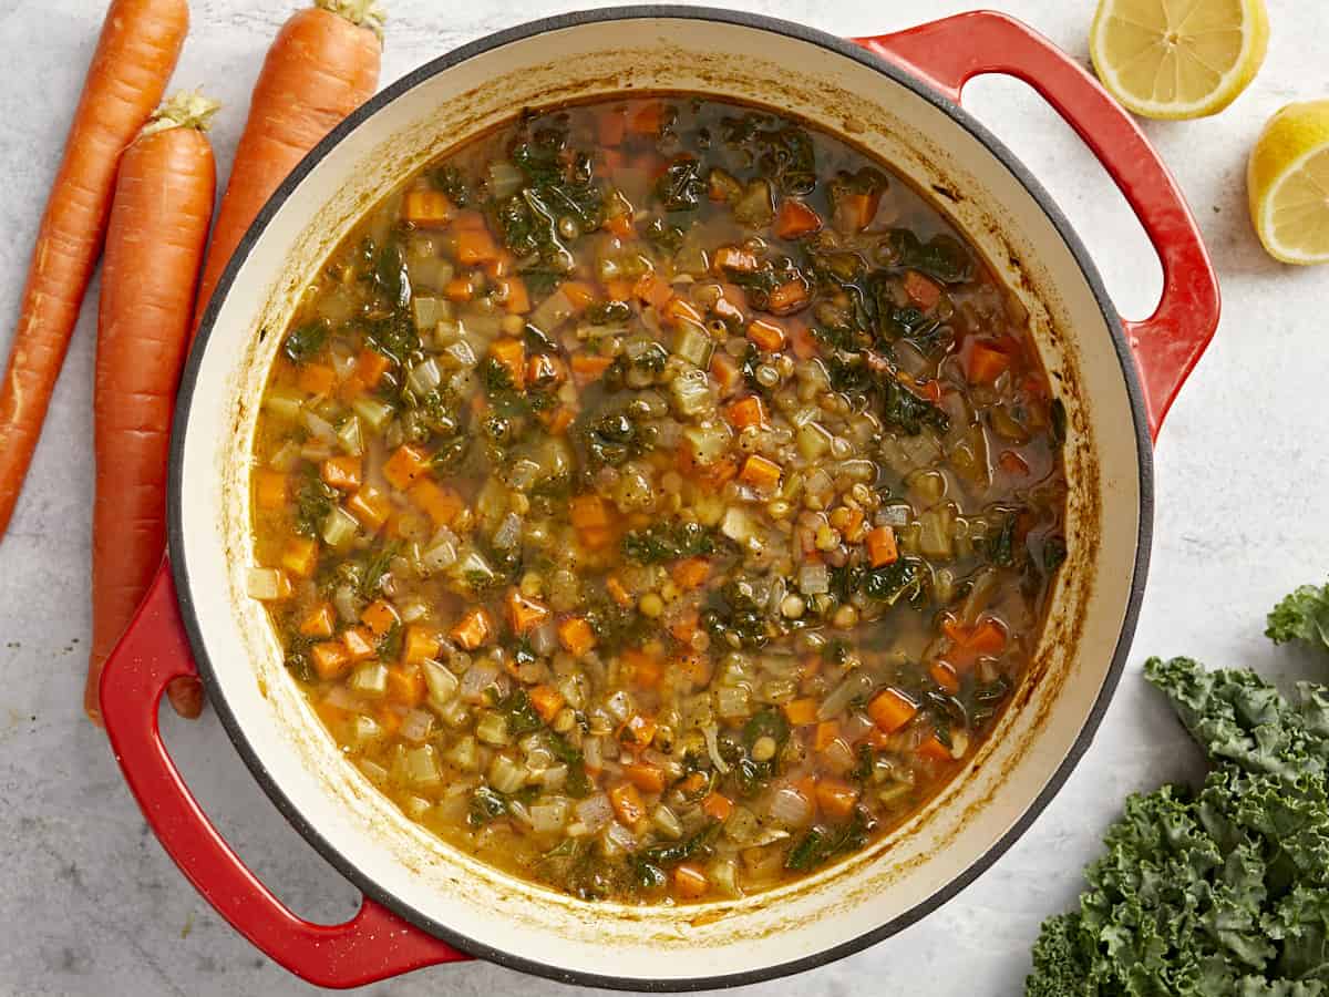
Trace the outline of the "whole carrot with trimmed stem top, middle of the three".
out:
<instances>
[{"instance_id":1,"label":"whole carrot with trimmed stem top, middle of the three","mask_svg":"<svg viewBox=\"0 0 1329 997\"><path fill-rule=\"evenodd\" d=\"M170 417L213 217L217 178L203 133L217 106L197 93L169 100L125 150L116 182L93 389L93 642L84 691L93 722L100 722L102 662L148 592L166 544ZM308 577L316 558L318 550L306 548L287 552L283 565ZM170 699L182 717L197 717L203 705L198 679L173 682Z\"/></svg>"}]
</instances>

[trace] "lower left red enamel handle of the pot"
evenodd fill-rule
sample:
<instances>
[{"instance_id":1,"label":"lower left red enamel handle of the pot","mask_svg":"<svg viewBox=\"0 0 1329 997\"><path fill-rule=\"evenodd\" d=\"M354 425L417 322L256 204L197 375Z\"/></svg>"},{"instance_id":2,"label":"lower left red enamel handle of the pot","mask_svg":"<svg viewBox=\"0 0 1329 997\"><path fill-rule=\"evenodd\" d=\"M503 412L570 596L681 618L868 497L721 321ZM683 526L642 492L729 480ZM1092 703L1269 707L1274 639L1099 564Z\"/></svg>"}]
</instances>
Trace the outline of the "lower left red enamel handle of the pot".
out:
<instances>
[{"instance_id":1,"label":"lower left red enamel handle of the pot","mask_svg":"<svg viewBox=\"0 0 1329 997\"><path fill-rule=\"evenodd\" d=\"M217 833L166 754L157 709L166 685L194 675L170 566L101 677L101 710L116 760L157 839L222 917L267 956L318 986L360 986L469 958L365 897L344 924L314 924L282 904Z\"/></svg>"}]
</instances>

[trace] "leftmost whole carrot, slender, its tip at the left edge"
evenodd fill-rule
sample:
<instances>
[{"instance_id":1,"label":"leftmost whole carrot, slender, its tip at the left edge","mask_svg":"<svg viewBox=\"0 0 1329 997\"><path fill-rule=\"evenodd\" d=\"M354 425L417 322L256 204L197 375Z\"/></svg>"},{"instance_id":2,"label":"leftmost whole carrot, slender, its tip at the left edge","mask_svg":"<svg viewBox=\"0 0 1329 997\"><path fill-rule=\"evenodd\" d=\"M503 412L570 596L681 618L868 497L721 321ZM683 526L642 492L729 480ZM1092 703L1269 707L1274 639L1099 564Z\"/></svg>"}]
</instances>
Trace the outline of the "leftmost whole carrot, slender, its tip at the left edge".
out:
<instances>
[{"instance_id":1,"label":"leftmost whole carrot, slender, its tip at the left edge","mask_svg":"<svg viewBox=\"0 0 1329 997\"><path fill-rule=\"evenodd\" d=\"M106 12L37 230L0 384L0 536L19 500L97 265L116 166L161 100L187 28L185 0L113 0ZM173 277L179 279L178 269ZM109 639L118 635L117 630Z\"/></svg>"}]
</instances>

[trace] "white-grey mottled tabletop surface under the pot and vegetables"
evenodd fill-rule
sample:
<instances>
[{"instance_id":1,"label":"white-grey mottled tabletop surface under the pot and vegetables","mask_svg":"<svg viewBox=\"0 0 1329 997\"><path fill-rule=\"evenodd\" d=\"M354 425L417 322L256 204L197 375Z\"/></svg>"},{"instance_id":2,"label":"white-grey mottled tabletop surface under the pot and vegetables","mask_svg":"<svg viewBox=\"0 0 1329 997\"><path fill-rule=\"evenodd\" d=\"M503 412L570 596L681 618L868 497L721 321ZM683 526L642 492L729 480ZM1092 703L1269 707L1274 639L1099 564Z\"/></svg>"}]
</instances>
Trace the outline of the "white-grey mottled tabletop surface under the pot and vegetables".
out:
<instances>
[{"instance_id":1,"label":"white-grey mottled tabletop surface under the pot and vegetables","mask_svg":"<svg viewBox=\"0 0 1329 997\"><path fill-rule=\"evenodd\" d=\"M736 3L736 0L731 0ZM1084 57L1091 0L998 0ZM178 85L227 105L214 132L229 166L249 90L295 0L195 0ZM565 9L561 0L443 4L389 0L383 78L464 41ZM587 5L578 0L577 5ZM744 8L841 35L902 28L965 8L957 0L746 0ZM0 348L33 230L101 19L100 0L0 0L9 43L0 89ZM1139 666L1151 653L1325 674L1277 651L1263 613L1329 569L1329 269L1269 261L1244 205L1247 150L1284 102L1329 96L1322 0L1269 0L1264 72L1215 120L1150 124L1217 263L1219 336L1158 451L1154 566L1135 653L1096 743L1034 828L958 899L867 952L744 993L1014 994L1041 919L1079 889L1079 869L1122 796L1184 776L1195 758ZM966 102L1043 178L1083 235L1123 314L1143 316L1160 286L1143 234L1106 174L1021 85L978 81ZM225 174L223 174L225 175ZM93 288L93 295L96 288ZM148 832L102 735L80 709L89 633L88 558L93 314L89 295L9 536L0 545L0 994L311 993L268 962L187 885ZM167 722L175 756L218 827L253 868L308 916L354 909L355 891L287 827L215 719ZM365 988L376 997L569 994L571 988L480 962Z\"/></svg>"}]
</instances>

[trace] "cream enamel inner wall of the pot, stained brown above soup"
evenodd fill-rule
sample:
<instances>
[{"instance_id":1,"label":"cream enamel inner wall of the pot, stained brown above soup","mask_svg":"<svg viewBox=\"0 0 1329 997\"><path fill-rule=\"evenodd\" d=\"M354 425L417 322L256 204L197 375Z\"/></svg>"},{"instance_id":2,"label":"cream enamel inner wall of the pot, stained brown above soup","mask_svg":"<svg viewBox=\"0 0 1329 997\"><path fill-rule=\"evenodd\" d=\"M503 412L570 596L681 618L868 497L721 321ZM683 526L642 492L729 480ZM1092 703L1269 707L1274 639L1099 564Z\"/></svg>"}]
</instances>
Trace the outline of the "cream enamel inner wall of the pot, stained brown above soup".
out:
<instances>
[{"instance_id":1,"label":"cream enamel inner wall of the pot, stained brown above soup","mask_svg":"<svg viewBox=\"0 0 1329 997\"><path fill-rule=\"evenodd\" d=\"M260 605L245 596L255 407L280 332L326 254L384 191L477 130L524 105L625 89L768 104L848 133L924 190L957 191L957 203L940 203L1030 308L1070 416L1071 557L1018 709L969 771L890 839L812 880L704 907L575 901L481 865L407 820L340 759L286 675ZM473 55L427 76L328 150L272 215L217 315L173 496L182 528L175 572L193 601L210 693L326 848L403 909L545 972L668 986L849 942L928 901L1013 827L1075 747L1108 674L1138 554L1140 455L1106 323L1022 183L977 137L872 66L807 40L688 17L593 21Z\"/></svg>"}]
</instances>

